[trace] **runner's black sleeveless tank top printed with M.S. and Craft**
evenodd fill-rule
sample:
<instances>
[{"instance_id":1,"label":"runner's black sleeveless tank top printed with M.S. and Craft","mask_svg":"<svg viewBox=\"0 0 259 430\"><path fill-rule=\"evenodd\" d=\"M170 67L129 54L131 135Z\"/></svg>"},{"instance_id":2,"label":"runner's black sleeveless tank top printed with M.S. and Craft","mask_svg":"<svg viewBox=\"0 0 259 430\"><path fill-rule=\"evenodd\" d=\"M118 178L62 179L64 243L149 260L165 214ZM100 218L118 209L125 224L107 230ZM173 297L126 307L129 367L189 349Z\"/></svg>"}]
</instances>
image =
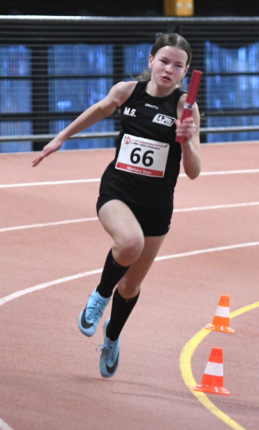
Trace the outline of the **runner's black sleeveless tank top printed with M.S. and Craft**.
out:
<instances>
[{"instance_id":1,"label":"runner's black sleeveless tank top printed with M.S. and Craft","mask_svg":"<svg viewBox=\"0 0 259 430\"><path fill-rule=\"evenodd\" d=\"M138 82L130 97L120 106L121 131L114 160L105 169L100 194L154 208L172 208L173 192L180 170L181 145L176 143L177 103L182 94L176 88L166 97L153 97ZM170 144L163 178L150 177L115 168L124 133Z\"/></svg>"}]
</instances>

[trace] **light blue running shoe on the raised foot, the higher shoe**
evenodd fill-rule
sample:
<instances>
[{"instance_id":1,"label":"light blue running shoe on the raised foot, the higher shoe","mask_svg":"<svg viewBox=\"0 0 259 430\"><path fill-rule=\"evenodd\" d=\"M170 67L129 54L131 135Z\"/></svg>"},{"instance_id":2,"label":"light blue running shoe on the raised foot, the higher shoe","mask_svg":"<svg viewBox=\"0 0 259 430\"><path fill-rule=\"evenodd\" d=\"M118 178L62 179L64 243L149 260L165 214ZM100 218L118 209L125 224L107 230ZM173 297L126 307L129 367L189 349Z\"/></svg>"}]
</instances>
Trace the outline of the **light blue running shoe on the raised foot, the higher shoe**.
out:
<instances>
[{"instance_id":1,"label":"light blue running shoe on the raised foot, the higher shoe","mask_svg":"<svg viewBox=\"0 0 259 430\"><path fill-rule=\"evenodd\" d=\"M105 307L110 300L110 297L102 297L96 289L89 295L89 300L78 318L78 326L84 335L91 337L95 334Z\"/></svg>"}]
</instances>

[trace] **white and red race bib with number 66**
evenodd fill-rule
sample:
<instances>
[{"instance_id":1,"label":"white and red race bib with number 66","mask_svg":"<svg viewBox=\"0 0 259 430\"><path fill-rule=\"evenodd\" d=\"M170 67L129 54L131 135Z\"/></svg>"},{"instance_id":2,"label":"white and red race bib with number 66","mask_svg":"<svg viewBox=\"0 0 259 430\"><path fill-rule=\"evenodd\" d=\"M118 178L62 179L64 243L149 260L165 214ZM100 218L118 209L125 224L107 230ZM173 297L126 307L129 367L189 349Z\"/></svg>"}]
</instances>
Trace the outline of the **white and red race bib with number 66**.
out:
<instances>
[{"instance_id":1,"label":"white and red race bib with number 66","mask_svg":"<svg viewBox=\"0 0 259 430\"><path fill-rule=\"evenodd\" d=\"M115 168L163 178L168 152L169 143L124 134Z\"/></svg>"}]
</instances>

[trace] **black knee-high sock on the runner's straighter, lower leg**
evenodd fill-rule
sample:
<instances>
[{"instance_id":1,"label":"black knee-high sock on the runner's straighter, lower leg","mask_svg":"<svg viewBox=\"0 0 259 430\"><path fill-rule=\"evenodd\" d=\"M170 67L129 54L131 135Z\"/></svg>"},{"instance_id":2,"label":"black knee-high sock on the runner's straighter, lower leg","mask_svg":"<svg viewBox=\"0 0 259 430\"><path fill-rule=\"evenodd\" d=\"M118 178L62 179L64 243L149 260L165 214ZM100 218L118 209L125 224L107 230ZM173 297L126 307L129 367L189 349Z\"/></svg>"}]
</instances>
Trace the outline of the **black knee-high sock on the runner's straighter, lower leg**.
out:
<instances>
[{"instance_id":1,"label":"black knee-high sock on the runner's straighter, lower leg","mask_svg":"<svg viewBox=\"0 0 259 430\"><path fill-rule=\"evenodd\" d=\"M111 319L106 327L106 336L111 339L111 341L116 341L120 336L120 332L126 320L129 318L133 307L137 303L139 294L133 298L125 299L123 298L118 289L114 291L112 306L111 306Z\"/></svg>"}]
</instances>

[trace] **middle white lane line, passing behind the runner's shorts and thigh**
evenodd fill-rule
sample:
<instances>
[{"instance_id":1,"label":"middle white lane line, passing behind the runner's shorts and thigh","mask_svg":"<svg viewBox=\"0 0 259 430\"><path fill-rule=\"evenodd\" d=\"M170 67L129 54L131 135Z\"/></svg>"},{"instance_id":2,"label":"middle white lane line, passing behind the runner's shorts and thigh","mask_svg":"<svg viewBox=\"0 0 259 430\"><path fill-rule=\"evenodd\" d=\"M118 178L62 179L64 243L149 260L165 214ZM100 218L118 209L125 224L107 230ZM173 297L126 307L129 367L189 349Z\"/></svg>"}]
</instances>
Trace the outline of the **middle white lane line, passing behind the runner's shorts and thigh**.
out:
<instances>
[{"instance_id":1,"label":"middle white lane line, passing behind the runner's shorts and thigh","mask_svg":"<svg viewBox=\"0 0 259 430\"><path fill-rule=\"evenodd\" d=\"M259 206L259 202L248 202L248 203L231 203L228 205L214 205L214 206L197 206L193 208L182 208L182 209L174 209L175 212L192 212L192 211L202 211L202 210L209 210L209 209L227 209L227 208L239 208L239 207L245 207L245 206ZM68 219L66 221L53 221L53 222L47 222L43 224L28 224L28 225L18 225L16 227L5 227L0 228L0 233L4 231L12 231L12 230L23 230L26 228L35 228L35 227L48 227L51 225L62 225L62 224L72 224L75 222L85 222L85 221L98 221L98 217L92 217L92 218L77 218L77 219Z\"/></svg>"}]
</instances>

